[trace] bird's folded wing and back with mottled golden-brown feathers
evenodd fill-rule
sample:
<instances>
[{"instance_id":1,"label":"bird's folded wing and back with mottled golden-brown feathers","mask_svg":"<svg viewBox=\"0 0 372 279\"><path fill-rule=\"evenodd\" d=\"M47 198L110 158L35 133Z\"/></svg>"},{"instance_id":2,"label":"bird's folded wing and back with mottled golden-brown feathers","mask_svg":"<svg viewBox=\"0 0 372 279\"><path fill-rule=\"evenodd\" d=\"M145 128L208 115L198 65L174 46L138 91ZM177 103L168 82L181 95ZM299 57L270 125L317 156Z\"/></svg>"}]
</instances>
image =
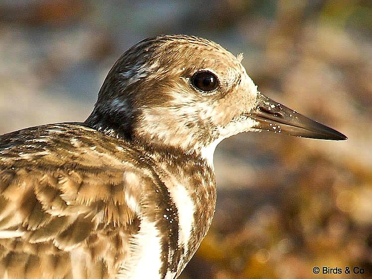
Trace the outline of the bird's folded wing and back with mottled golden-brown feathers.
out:
<instances>
[{"instance_id":1,"label":"bird's folded wing and back with mottled golden-brown feathers","mask_svg":"<svg viewBox=\"0 0 372 279\"><path fill-rule=\"evenodd\" d=\"M113 277L139 229L133 201L150 183L139 156L77 124L0 136L0 274Z\"/></svg>"}]
</instances>

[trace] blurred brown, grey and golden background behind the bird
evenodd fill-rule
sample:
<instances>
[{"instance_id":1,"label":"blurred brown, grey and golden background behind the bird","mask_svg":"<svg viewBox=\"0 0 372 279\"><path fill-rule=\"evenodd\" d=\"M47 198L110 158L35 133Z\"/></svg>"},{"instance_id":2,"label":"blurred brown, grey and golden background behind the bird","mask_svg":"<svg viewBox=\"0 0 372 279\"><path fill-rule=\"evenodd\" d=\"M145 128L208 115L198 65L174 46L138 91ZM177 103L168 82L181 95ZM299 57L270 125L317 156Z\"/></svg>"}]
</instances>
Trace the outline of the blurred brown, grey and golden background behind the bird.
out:
<instances>
[{"instance_id":1,"label":"blurred brown, grey and golden background behind the bird","mask_svg":"<svg viewBox=\"0 0 372 279\"><path fill-rule=\"evenodd\" d=\"M370 0L1 0L0 134L85 120L116 59L169 33L243 52L262 93L349 137L222 142L214 222L182 279L310 278L313 267L346 266L372 278Z\"/></svg>"}]
</instances>

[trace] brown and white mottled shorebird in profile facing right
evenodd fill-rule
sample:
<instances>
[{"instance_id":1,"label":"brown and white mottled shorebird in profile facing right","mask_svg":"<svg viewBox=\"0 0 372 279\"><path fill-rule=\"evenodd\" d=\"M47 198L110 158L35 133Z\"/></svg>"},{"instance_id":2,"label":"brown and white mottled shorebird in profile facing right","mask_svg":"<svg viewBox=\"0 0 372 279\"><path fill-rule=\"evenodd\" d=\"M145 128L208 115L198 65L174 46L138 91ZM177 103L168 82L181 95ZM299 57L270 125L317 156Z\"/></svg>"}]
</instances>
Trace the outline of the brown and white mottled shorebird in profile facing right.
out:
<instances>
[{"instance_id":1,"label":"brown and white mottled shorebird in profile facing right","mask_svg":"<svg viewBox=\"0 0 372 279\"><path fill-rule=\"evenodd\" d=\"M242 59L196 36L147 38L84 122L1 135L3 278L177 278L213 219L218 143L347 139L260 93Z\"/></svg>"}]
</instances>

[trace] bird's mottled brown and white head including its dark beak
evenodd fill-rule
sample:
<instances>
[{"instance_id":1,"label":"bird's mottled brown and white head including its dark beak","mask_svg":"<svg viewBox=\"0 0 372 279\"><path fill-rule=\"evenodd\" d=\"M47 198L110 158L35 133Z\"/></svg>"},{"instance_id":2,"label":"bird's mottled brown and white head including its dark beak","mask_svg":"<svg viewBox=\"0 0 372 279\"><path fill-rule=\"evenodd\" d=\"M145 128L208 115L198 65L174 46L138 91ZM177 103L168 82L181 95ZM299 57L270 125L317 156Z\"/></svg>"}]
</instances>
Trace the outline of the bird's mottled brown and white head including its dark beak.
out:
<instances>
[{"instance_id":1,"label":"bird's mottled brown and white head including its dark beak","mask_svg":"<svg viewBox=\"0 0 372 279\"><path fill-rule=\"evenodd\" d=\"M208 160L219 142L242 132L346 139L261 94L242 58L193 36L145 39L110 70L86 123L106 134L181 148Z\"/></svg>"}]
</instances>

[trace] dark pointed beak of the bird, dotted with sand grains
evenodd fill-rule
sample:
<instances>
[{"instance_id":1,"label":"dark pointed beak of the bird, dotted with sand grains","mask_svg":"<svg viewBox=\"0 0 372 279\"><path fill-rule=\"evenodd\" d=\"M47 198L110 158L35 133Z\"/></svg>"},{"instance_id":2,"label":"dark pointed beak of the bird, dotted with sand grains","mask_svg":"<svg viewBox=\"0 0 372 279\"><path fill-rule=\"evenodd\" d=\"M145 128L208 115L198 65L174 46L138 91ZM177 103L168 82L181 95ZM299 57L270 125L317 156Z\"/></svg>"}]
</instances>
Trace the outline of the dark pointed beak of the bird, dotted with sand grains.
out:
<instances>
[{"instance_id":1,"label":"dark pointed beak of the bird, dotted with sand grains","mask_svg":"<svg viewBox=\"0 0 372 279\"><path fill-rule=\"evenodd\" d=\"M291 110L258 93L257 106L247 113L257 125L254 128L274 133L288 134L304 138L346 140L347 137L332 128Z\"/></svg>"}]
</instances>

